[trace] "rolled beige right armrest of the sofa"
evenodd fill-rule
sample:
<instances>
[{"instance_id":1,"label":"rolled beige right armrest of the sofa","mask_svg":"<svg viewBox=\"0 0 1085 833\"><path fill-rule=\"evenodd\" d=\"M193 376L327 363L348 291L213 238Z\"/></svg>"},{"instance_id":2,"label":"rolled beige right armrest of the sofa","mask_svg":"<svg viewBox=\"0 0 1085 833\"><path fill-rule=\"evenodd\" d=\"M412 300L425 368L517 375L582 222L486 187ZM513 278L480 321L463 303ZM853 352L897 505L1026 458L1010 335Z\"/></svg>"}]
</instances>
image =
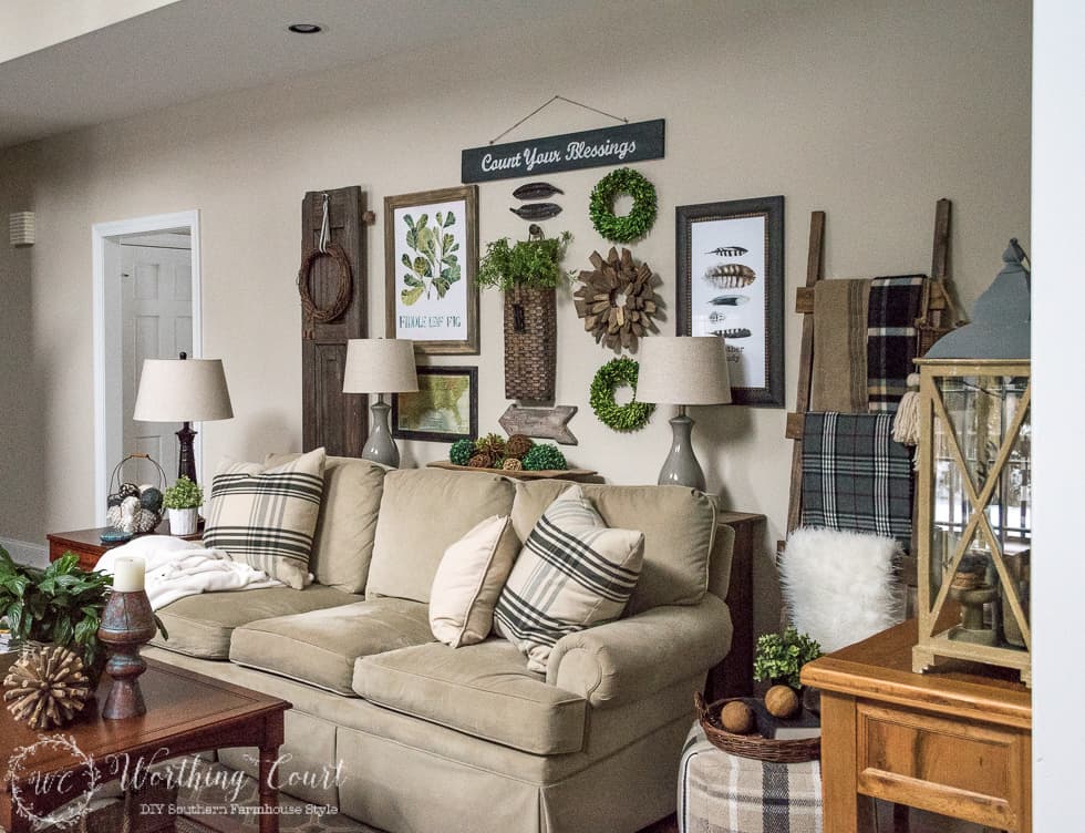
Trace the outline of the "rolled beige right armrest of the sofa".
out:
<instances>
[{"instance_id":1,"label":"rolled beige right armrest of the sofa","mask_svg":"<svg viewBox=\"0 0 1085 833\"><path fill-rule=\"evenodd\" d=\"M731 649L731 611L711 593L568 634L550 651L546 681L608 708L706 673Z\"/></svg>"}]
</instances>

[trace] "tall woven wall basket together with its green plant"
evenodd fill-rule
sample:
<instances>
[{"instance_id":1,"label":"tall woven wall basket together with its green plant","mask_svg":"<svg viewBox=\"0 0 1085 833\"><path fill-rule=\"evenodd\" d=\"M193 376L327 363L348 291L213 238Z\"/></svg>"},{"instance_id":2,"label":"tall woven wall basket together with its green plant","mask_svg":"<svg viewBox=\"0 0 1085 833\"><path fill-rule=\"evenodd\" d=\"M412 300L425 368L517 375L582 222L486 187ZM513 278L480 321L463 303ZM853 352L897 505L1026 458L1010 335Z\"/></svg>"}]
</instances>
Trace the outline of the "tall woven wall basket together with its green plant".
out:
<instances>
[{"instance_id":1,"label":"tall woven wall basket together with its green plant","mask_svg":"<svg viewBox=\"0 0 1085 833\"><path fill-rule=\"evenodd\" d=\"M505 294L505 398L554 399L557 368L555 289L570 277L560 268L572 235L542 237L531 226L527 240L507 237L486 245L475 281Z\"/></svg>"}]
</instances>

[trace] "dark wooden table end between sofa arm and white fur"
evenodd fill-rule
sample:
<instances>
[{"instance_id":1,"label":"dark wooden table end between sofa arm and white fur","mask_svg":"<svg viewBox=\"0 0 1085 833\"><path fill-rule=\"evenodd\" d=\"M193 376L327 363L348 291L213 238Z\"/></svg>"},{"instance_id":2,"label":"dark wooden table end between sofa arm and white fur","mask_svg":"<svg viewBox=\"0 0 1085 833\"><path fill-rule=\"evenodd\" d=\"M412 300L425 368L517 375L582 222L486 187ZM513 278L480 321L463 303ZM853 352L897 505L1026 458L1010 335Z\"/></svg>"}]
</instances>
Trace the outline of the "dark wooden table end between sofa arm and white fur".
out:
<instances>
[{"instance_id":1,"label":"dark wooden table end between sofa arm and white fur","mask_svg":"<svg viewBox=\"0 0 1085 833\"><path fill-rule=\"evenodd\" d=\"M731 559L731 584L727 606L735 633L731 651L709 671L704 699L714 702L724 697L748 697L754 691L754 554L765 539L765 516L752 512L721 512L719 523L735 531Z\"/></svg>"}]
</instances>

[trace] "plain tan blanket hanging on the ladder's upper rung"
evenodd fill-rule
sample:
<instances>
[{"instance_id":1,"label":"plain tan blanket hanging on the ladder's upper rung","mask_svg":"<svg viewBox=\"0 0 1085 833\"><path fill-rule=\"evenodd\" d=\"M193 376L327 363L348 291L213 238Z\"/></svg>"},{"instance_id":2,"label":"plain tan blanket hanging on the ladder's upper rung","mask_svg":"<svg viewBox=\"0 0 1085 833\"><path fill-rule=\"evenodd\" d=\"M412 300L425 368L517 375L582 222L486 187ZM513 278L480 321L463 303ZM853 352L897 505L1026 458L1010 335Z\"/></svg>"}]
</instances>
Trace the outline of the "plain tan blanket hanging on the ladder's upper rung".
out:
<instances>
[{"instance_id":1,"label":"plain tan blanket hanging on the ladder's upper rung","mask_svg":"<svg viewBox=\"0 0 1085 833\"><path fill-rule=\"evenodd\" d=\"M835 278L814 285L812 411L866 413L869 301L869 279Z\"/></svg>"}]
</instances>

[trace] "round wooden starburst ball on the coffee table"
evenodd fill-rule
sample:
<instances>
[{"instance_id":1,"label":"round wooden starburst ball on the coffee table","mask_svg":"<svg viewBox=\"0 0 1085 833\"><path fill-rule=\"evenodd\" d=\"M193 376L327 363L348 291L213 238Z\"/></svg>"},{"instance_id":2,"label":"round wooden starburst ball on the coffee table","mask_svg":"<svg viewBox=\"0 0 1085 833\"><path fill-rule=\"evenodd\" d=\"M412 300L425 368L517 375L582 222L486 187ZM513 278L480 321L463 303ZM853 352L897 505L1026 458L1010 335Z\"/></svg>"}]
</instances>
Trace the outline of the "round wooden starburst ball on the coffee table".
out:
<instances>
[{"instance_id":1,"label":"round wooden starburst ball on the coffee table","mask_svg":"<svg viewBox=\"0 0 1085 833\"><path fill-rule=\"evenodd\" d=\"M4 677L3 688L8 711L32 729L64 726L91 697L83 660L59 645L21 656Z\"/></svg>"}]
</instances>

